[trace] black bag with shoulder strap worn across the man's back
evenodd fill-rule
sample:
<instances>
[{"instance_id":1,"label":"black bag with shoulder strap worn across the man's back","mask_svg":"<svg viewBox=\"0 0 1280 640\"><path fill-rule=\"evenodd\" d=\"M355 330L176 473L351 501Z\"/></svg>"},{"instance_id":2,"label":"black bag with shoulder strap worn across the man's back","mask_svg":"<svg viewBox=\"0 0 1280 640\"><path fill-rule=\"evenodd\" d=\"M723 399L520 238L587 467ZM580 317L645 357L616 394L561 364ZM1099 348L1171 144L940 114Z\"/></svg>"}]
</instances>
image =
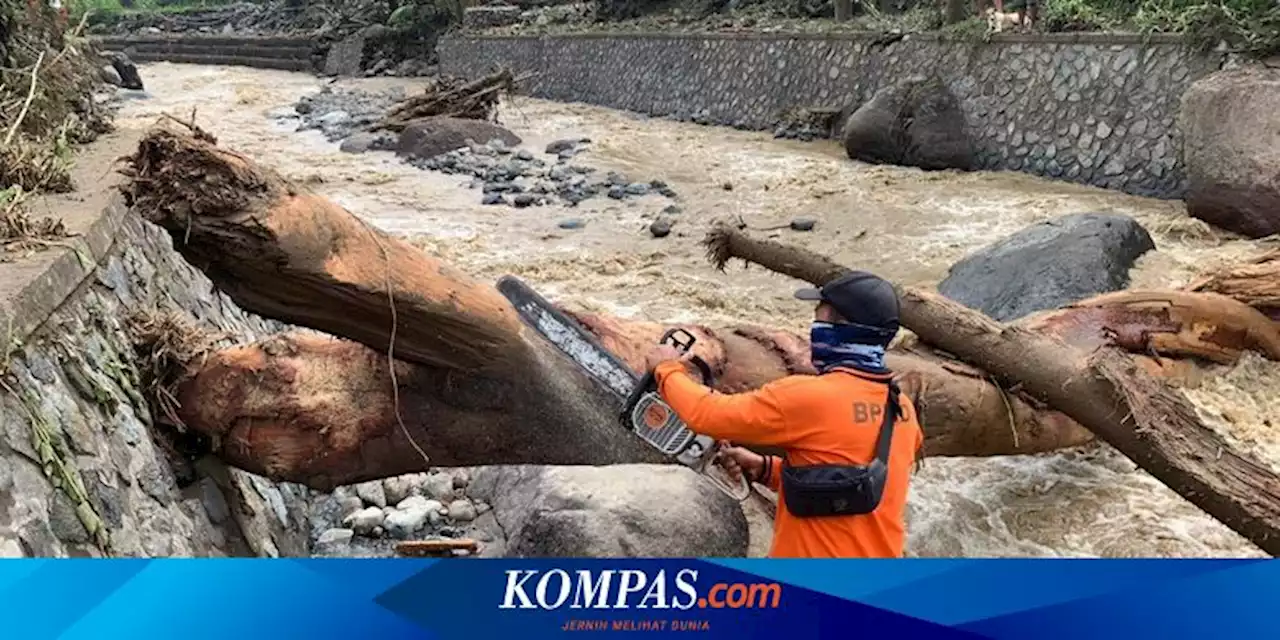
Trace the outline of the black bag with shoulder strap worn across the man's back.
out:
<instances>
[{"instance_id":1,"label":"black bag with shoulder strap worn across the man's back","mask_svg":"<svg viewBox=\"0 0 1280 640\"><path fill-rule=\"evenodd\" d=\"M867 466L791 466L782 461L782 498L796 517L860 516L876 511L884 495L893 422L901 415L897 384L888 383L884 420L876 438L876 460Z\"/></svg>"}]
</instances>

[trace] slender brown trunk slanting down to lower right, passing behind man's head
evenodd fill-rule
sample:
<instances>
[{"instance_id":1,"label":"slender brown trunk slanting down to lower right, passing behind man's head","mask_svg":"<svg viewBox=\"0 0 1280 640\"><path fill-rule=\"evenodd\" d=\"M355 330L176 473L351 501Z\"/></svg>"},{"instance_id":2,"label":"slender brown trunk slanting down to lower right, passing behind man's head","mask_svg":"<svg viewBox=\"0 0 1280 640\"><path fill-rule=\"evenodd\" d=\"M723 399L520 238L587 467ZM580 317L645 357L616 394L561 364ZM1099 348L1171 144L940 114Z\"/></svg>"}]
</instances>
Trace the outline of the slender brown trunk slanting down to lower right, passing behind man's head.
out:
<instances>
[{"instance_id":1,"label":"slender brown trunk slanting down to lower right, passing behind man's head","mask_svg":"<svg viewBox=\"0 0 1280 640\"><path fill-rule=\"evenodd\" d=\"M826 257L728 227L716 229L707 246L717 266L742 259L817 285L847 271ZM1261 549L1280 552L1280 477L1234 451L1181 394L1121 351L1075 348L929 292L899 288L899 296L902 325L920 339L1021 385Z\"/></svg>"}]
</instances>

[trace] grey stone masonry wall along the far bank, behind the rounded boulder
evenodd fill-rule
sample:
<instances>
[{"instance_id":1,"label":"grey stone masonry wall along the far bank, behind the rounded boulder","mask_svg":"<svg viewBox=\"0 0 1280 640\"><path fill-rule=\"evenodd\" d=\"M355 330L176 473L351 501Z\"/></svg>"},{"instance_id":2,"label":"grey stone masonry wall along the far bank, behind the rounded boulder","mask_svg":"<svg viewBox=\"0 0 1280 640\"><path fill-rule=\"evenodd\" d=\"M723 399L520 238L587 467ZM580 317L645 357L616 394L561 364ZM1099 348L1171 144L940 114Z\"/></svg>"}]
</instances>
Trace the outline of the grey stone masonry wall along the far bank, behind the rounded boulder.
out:
<instances>
[{"instance_id":1,"label":"grey stone masonry wall along the far bank, behind the rounded boulder","mask_svg":"<svg viewBox=\"0 0 1280 640\"><path fill-rule=\"evenodd\" d=\"M442 40L440 70L536 73L535 97L769 129L792 108L856 109L937 73L964 105L984 169L1180 197L1179 101L1224 56L1152 36L571 35Z\"/></svg>"}]
</instances>

